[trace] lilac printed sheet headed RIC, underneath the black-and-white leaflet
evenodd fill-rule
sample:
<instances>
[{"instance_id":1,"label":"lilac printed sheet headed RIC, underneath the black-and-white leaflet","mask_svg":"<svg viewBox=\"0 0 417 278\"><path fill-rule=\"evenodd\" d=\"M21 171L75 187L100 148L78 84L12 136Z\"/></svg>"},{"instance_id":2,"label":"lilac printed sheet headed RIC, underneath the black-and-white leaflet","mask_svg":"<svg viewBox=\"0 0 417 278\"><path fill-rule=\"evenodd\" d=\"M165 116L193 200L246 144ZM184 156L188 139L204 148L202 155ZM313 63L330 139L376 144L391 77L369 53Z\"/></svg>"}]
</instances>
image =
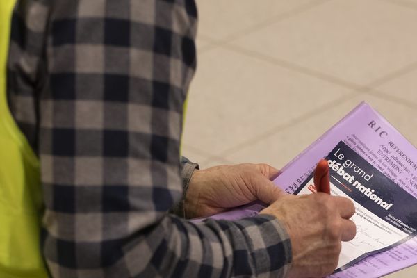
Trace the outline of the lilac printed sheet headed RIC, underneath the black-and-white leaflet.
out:
<instances>
[{"instance_id":1,"label":"lilac printed sheet headed RIC, underneath the black-and-white leaflet","mask_svg":"<svg viewBox=\"0 0 417 278\"><path fill-rule=\"evenodd\" d=\"M295 193L310 177L320 158L326 157L341 141L391 181L417 197L416 147L364 102L288 163L273 182L287 193ZM212 218L236 220L256 215L262 208L261 204L254 203L213 215ZM368 256L329 277L381 277L414 264L417 264L416 237Z\"/></svg>"}]
</instances>

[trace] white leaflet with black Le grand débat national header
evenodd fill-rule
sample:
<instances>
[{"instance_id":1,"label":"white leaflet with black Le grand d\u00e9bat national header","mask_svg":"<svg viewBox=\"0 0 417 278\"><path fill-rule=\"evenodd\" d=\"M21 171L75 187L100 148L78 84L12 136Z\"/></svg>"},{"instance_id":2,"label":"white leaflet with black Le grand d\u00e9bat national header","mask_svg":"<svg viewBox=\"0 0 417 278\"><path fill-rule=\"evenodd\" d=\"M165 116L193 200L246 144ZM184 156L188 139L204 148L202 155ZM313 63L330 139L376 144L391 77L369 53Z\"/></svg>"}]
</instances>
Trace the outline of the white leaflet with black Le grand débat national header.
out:
<instances>
[{"instance_id":1,"label":"white leaflet with black Le grand d\u00e9bat national header","mask_svg":"<svg viewBox=\"0 0 417 278\"><path fill-rule=\"evenodd\" d=\"M357 235L342 243L336 272L416 235L416 198L344 142L339 142L326 159L330 167L331 195L352 199L356 209L351 220L357 225ZM295 190L296 195L311 193L316 193L313 174Z\"/></svg>"}]
</instances>

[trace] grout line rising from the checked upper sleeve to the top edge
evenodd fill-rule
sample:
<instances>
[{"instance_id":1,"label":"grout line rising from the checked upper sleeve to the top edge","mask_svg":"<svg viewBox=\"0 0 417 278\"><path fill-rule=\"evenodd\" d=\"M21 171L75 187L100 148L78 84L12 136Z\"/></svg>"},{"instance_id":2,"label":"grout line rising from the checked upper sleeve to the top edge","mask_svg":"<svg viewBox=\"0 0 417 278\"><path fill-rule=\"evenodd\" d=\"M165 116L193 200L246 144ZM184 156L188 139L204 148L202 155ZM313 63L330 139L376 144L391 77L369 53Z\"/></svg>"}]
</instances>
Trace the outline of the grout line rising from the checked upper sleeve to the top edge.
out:
<instances>
[{"instance_id":1,"label":"grout line rising from the checked upper sleeve to the top edge","mask_svg":"<svg viewBox=\"0 0 417 278\"><path fill-rule=\"evenodd\" d=\"M259 22L252 26L248 26L247 28L240 29L236 31L236 33L231 33L230 35L227 35L226 37L221 38L221 39L210 38L209 36L202 34L200 36L204 40L211 40L211 42L213 43L206 45L206 47L202 47L202 49L199 49L199 54L202 54L206 51L210 51L211 49L215 49L217 47L222 47L224 44L227 44L228 42L231 42L232 40L237 40L238 38L241 38L245 35L254 33L255 31L259 31L263 27L269 26L271 24L275 24L277 22L281 22L284 19L288 19L290 17L303 13L306 10L310 10L311 8L315 8L316 6L320 6L329 1L331 0L312 0L309 3L306 3L305 5L293 8L292 10L288 10L285 13L274 15L273 17L265 19L265 21L263 22Z\"/></svg>"}]
</instances>

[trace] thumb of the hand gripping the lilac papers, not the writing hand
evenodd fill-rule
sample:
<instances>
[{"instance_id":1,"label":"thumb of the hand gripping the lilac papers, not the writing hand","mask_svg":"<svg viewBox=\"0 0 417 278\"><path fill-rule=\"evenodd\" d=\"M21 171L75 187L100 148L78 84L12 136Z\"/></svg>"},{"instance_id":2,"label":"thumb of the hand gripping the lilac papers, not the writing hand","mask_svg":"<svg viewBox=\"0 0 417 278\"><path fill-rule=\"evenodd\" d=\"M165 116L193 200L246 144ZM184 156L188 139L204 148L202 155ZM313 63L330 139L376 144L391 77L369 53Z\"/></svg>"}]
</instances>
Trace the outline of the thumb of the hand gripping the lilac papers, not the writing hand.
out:
<instances>
[{"instance_id":1,"label":"thumb of the hand gripping the lilac papers, not the writing hand","mask_svg":"<svg viewBox=\"0 0 417 278\"><path fill-rule=\"evenodd\" d=\"M252 182L253 195L264 202L265 204L272 204L287 193L276 186L272 181L259 174L254 177Z\"/></svg>"}]
</instances>

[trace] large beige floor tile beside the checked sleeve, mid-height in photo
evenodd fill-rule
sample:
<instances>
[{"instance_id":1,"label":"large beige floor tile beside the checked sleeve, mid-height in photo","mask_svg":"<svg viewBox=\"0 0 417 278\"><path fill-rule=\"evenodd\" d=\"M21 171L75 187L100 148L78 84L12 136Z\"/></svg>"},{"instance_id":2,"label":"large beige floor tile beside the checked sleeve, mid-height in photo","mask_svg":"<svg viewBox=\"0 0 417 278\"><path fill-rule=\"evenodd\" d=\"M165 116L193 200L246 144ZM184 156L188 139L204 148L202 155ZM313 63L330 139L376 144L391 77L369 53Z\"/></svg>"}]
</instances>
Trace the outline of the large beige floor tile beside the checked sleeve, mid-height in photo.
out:
<instances>
[{"instance_id":1,"label":"large beige floor tile beside the checked sleeve, mid-height in photo","mask_svg":"<svg viewBox=\"0 0 417 278\"><path fill-rule=\"evenodd\" d=\"M349 92L256 58L214 49L199 58L183 143L222 154Z\"/></svg>"}]
</instances>

